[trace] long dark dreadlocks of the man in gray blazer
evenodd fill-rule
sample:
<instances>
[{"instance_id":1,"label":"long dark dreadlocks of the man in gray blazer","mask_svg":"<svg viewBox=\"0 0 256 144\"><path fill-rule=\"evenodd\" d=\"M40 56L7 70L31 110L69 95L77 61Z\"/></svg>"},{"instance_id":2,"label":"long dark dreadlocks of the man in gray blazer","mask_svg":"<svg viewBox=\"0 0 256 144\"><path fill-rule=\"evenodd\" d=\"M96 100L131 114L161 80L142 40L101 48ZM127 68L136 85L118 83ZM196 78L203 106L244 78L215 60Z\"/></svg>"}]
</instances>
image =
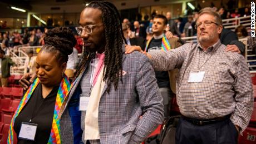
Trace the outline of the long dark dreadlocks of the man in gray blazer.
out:
<instances>
[{"instance_id":1,"label":"long dark dreadlocks of the man in gray blazer","mask_svg":"<svg viewBox=\"0 0 256 144\"><path fill-rule=\"evenodd\" d=\"M107 92L110 92L111 83L115 90L119 80L122 82L122 46L124 33L122 32L121 17L114 4L105 1L93 1L86 8L100 9L102 12L102 23L105 29L105 59L104 59L104 81L107 83ZM127 43L126 43L127 44ZM94 53L83 51L82 61L78 65L76 77L83 71L86 62L95 56Z\"/></svg>"}]
</instances>

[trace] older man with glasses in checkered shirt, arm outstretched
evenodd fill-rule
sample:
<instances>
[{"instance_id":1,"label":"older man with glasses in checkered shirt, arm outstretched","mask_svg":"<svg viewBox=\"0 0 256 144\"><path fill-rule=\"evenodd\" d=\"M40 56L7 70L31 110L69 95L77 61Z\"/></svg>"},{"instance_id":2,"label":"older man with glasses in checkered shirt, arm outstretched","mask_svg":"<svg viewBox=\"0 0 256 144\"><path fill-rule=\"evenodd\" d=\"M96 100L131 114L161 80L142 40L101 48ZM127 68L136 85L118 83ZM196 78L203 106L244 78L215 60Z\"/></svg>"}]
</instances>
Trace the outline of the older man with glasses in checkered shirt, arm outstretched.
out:
<instances>
[{"instance_id":1,"label":"older man with glasses in checkered shirt, arm outstretched","mask_svg":"<svg viewBox=\"0 0 256 144\"><path fill-rule=\"evenodd\" d=\"M225 51L218 13L201 11L195 28L198 43L146 53L157 71L179 68L176 96L182 117L176 143L237 143L253 110L248 64L241 54ZM133 47L126 53L134 49L141 51Z\"/></svg>"}]
</instances>

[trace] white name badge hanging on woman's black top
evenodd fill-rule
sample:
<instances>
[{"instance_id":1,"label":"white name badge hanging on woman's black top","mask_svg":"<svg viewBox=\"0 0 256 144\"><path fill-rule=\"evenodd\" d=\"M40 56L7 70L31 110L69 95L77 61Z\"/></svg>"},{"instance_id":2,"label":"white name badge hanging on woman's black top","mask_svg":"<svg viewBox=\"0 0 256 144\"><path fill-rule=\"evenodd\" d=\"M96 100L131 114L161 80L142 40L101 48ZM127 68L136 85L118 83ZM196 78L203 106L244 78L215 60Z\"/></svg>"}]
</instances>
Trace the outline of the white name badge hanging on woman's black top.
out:
<instances>
[{"instance_id":1,"label":"white name badge hanging on woman's black top","mask_svg":"<svg viewBox=\"0 0 256 144\"><path fill-rule=\"evenodd\" d=\"M18 138L34 141L36 136L36 129L37 124L22 122Z\"/></svg>"}]
</instances>

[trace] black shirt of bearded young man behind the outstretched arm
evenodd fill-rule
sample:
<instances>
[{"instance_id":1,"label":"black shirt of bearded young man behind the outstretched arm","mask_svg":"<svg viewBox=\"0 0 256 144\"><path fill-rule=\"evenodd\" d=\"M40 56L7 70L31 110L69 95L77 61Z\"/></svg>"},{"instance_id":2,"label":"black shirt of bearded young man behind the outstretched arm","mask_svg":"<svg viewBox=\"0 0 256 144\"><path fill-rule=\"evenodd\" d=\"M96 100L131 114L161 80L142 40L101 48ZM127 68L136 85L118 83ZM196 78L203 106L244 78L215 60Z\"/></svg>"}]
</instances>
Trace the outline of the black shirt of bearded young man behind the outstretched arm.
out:
<instances>
[{"instance_id":1,"label":"black shirt of bearded young man behind the outstretched arm","mask_svg":"<svg viewBox=\"0 0 256 144\"><path fill-rule=\"evenodd\" d=\"M162 38L155 39L152 38L152 41L149 44L149 47L147 48L147 52L159 50L162 46ZM169 75L167 71L155 71L157 85L159 88L162 87L168 87L170 88L170 80Z\"/></svg>"}]
</instances>

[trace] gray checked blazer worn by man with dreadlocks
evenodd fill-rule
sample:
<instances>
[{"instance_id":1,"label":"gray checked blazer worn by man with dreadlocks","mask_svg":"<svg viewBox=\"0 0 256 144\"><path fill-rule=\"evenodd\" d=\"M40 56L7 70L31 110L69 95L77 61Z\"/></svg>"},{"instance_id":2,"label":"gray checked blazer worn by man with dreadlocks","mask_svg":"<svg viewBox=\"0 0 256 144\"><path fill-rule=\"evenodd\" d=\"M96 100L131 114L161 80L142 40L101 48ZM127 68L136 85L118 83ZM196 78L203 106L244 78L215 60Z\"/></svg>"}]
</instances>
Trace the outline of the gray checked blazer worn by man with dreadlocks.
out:
<instances>
[{"instance_id":1,"label":"gray checked blazer worn by man with dreadlocks","mask_svg":"<svg viewBox=\"0 0 256 144\"><path fill-rule=\"evenodd\" d=\"M122 50L125 51L124 46ZM163 98L149 58L139 52L123 54L122 68L124 74L117 90L111 85L110 93L107 93L105 85L100 99L98 122L101 143L141 143L164 120ZM71 88L67 103L82 75ZM60 112L61 138L62 143L73 143L67 106L63 105Z\"/></svg>"}]
</instances>

